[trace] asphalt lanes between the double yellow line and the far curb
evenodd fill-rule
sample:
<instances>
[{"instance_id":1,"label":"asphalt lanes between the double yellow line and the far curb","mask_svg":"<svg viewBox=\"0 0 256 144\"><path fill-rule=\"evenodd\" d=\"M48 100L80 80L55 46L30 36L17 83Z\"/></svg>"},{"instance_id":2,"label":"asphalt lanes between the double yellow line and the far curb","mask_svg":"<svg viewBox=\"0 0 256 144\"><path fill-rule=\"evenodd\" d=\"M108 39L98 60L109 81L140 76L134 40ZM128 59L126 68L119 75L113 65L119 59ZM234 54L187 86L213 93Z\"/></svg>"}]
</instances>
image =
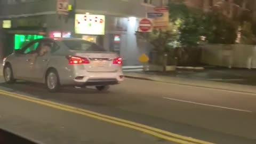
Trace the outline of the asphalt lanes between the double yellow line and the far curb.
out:
<instances>
[{"instance_id":1,"label":"asphalt lanes between the double yellow line and the far curb","mask_svg":"<svg viewBox=\"0 0 256 144\"><path fill-rule=\"evenodd\" d=\"M105 93L94 89L73 88L65 88L60 93L49 93L43 85L27 82L18 82L14 85L1 84L0 88L26 94L31 98L59 102L214 143L256 143L256 94L254 93L138 79L125 79L122 84L111 87ZM10 107L11 104L4 107L7 106ZM14 108L13 111L16 110ZM39 111L39 113L43 112ZM63 114L51 114L54 115L61 119L66 118ZM78 120L69 122L74 125ZM93 122L91 124L94 125Z\"/></svg>"}]
</instances>

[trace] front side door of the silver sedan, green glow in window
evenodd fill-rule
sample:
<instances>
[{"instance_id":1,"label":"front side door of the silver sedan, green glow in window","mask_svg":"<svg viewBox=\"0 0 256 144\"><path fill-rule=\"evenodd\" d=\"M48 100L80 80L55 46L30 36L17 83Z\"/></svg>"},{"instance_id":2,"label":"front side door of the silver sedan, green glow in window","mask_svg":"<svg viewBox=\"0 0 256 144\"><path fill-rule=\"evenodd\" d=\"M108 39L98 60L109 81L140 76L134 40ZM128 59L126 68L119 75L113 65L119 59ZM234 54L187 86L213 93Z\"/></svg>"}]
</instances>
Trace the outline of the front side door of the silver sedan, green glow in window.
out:
<instances>
[{"instance_id":1,"label":"front side door of the silver sedan, green glow in window","mask_svg":"<svg viewBox=\"0 0 256 144\"><path fill-rule=\"evenodd\" d=\"M38 41L33 41L23 47L21 52L16 54L14 76L18 79L30 81L31 75L31 60L36 53L39 45Z\"/></svg>"}]
</instances>

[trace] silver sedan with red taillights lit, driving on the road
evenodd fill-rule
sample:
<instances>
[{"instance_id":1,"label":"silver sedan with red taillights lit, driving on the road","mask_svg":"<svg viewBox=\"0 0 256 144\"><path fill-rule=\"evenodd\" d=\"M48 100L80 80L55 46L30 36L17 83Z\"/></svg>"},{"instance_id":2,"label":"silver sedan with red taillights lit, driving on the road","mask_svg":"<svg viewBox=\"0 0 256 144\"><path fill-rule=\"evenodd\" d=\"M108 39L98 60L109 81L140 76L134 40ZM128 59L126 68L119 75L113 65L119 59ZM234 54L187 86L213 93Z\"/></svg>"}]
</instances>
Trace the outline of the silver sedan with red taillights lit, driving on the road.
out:
<instances>
[{"instance_id":1,"label":"silver sedan with red taillights lit, driving on the road","mask_svg":"<svg viewBox=\"0 0 256 144\"><path fill-rule=\"evenodd\" d=\"M4 59L6 83L17 79L61 86L95 86L99 91L123 81L122 59L95 43L76 38L37 39Z\"/></svg>"}]
</instances>

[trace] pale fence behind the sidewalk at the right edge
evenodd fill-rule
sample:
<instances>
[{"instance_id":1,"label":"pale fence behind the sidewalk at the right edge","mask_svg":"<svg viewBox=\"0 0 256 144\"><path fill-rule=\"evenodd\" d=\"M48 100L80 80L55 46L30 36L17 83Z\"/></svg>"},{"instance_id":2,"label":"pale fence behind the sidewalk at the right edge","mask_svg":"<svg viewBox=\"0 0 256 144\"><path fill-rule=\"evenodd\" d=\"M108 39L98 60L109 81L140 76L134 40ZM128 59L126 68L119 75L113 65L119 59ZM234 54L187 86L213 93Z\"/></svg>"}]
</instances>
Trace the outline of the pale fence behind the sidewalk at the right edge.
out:
<instances>
[{"instance_id":1,"label":"pale fence behind the sidewalk at the right edge","mask_svg":"<svg viewBox=\"0 0 256 144\"><path fill-rule=\"evenodd\" d=\"M256 45L207 44L201 62L229 68L256 68Z\"/></svg>"}]
</instances>

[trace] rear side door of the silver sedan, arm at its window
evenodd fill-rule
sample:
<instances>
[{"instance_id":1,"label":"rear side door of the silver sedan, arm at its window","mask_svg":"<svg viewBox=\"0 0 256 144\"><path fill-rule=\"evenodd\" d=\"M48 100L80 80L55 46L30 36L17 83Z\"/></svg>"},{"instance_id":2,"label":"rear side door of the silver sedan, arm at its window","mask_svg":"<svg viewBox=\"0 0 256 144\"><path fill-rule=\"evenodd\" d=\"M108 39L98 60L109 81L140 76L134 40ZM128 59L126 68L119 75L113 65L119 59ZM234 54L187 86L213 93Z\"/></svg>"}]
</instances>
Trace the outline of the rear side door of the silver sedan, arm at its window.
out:
<instances>
[{"instance_id":1,"label":"rear side door of the silver sedan, arm at its window","mask_svg":"<svg viewBox=\"0 0 256 144\"><path fill-rule=\"evenodd\" d=\"M47 51L43 55L38 55L34 64L33 74L31 74L31 76L33 77L33 80L39 83L44 82L44 79L43 79L44 74L51 60L52 53L57 50L56 48L57 44L55 44L54 41L51 41L51 40L42 41L40 46L44 46L45 44L50 47L51 51ZM42 47L39 47L39 49L41 48Z\"/></svg>"}]
</instances>

